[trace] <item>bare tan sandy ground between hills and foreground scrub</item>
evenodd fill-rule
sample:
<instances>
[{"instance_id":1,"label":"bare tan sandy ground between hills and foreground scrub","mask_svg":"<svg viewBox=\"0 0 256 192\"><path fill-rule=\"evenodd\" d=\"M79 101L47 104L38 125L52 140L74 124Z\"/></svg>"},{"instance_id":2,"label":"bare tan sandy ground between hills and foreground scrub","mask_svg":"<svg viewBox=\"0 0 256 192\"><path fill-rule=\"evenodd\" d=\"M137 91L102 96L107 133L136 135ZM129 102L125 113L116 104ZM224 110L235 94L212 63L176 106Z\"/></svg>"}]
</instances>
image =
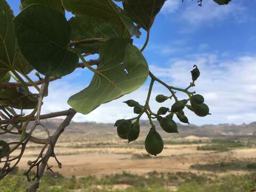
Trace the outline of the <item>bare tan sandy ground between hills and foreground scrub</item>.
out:
<instances>
[{"instance_id":1,"label":"bare tan sandy ground between hills and foreground scrub","mask_svg":"<svg viewBox=\"0 0 256 192\"><path fill-rule=\"evenodd\" d=\"M189 136L183 140L209 140L209 138L198 138ZM179 140L179 139L177 139ZM99 142L99 141L97 141ZM195 172L204 173L190 169L193 164L214 163L220 161L256 159L256 148L239 148L225 152L197 150L197 146L205 144L188 144L188 145L165 145L161 154L157 157L134 158L136 155L145 154L143 145L111 141L89 147L87 142L62 142L55 148L55 153L62 163L62 169L59 169L53 158L50 159L49 165L53 166L54 171L58 171L66 177L76 175L105 175L127 171L131 173L143 174L153 170L159 172ZM84 147L83 147L84 145ZM78 146L78 147L77 147ZM21 159L19 167L27 169L27 162L33 161L38 154L39 148L28 148L25 156ZM230 172L229 172L230 173ZM236 171L237 173L237 171Z\"/></svg>"}]
</instances>

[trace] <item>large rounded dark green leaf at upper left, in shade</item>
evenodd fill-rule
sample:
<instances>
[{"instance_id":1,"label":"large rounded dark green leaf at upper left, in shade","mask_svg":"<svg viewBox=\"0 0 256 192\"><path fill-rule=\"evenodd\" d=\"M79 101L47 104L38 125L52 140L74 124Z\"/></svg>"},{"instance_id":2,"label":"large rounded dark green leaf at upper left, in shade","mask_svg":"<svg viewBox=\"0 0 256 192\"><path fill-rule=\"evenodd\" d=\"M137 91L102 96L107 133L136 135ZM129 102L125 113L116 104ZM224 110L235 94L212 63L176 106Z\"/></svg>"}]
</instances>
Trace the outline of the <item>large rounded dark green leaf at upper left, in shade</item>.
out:
<instances>
[{"instance_id":1,"label":"large rounded dark green leaf at upper left, in shade","mask_svg":"<svg viewBox=\"0 0 256 192\"><path fill-rule=\"evenodd\" d=\"M29 5L14 18L14 29L22 55L39 73L60 77L77 67L77 55L67 49L71 29L60 12Z\"/></svg>"}]
</instances>

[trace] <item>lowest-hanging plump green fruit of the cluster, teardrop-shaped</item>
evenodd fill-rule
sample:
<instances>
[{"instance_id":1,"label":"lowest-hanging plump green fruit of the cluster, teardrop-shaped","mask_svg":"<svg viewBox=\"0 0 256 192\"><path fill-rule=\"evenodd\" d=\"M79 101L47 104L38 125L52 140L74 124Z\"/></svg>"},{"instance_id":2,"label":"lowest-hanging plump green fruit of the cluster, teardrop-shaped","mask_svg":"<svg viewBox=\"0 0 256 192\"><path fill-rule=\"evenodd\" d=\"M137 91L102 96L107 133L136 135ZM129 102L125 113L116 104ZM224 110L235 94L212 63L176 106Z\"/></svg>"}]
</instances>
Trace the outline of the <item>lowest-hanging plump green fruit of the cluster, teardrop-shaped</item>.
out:
<instances>
[{"instance_id":1,"label":"lowest-hanging plump green fruit of the cluster, teardrop-shaped","mask_svg":"<svg viewBox=\"0 0 256 192\"><path fill-rule=\"evenodd\" d=\"M157 133L154 128L151 128L145 140L146 151L150 155L156 156L157 154L162 152L163 148L164 142L161 135L159 135L159 133Z\"/></svg>"}]
</instances>

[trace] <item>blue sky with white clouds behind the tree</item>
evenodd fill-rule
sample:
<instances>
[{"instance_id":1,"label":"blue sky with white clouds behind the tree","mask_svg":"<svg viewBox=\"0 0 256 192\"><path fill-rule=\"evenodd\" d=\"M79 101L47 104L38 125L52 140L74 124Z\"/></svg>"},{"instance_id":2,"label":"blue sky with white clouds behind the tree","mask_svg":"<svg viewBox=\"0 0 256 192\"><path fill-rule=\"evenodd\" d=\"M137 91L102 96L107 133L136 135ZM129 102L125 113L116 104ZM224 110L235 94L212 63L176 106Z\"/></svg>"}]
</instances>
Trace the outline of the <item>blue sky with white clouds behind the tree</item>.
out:
<instances>
[{"instance_id":1,"label":"blue sky with white clouds behind the tree","mask_svg":"<svg viewBox=\"0 0 256 192\"><path fill-rule=\"evenodd\" d=\"M7 0L14 14L19 13L19 1ZM193 91L202 94L212 115L198 117L185 110L191 124L242 124L256 121L256 1L232 0L219 6L204 0L199 7L196 1L167 0L157 15L150 31L149 44L143 55L150 70L169 85L187 87L190 71L197 65L201 76ZM67 19L72 17L66 14ZM134 45L142 47L146 33L141 30ZM88 59L97 59L93 55ZM87 58L86 58L87 59ZM31 78L34 73L30 74ZM93 74L87 69L50 84L49 97L44 99L42 113L70 108L68 98L84 89ZM76 122L113 123L117 119L134 117L133 109L123 101L134 99L145 103L150 79L137 91L105 103L88 115L77 114ZM161 85L153 87L150 107L171 107L173 101L157 103L157 94L170 93ZM177 93L179 98L185 94ZM142 116L142 119L146 119ZM174 119L175 120L175 119ZM178 122L178 120L177 120Z\"/></svg>"}]
</instances>

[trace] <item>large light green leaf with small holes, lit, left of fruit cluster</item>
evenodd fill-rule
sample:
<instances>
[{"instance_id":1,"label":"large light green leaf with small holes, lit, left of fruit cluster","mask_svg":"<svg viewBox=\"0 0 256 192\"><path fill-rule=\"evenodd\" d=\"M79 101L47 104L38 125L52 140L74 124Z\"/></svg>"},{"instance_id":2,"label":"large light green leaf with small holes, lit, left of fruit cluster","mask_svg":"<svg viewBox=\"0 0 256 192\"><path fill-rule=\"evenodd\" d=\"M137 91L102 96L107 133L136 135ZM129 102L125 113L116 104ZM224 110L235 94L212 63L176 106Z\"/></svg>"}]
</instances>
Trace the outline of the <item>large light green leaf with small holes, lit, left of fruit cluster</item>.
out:
<instances>
[{"instance_id":1,"label":"large light green leaf with small holes, lit, left of fruit cluster","mask_svg":"<svg viewBox=\"0 0 256 192\"><path fill-rule=\"evenodd\" d=\"M102 44L98 73L86 89L69 98L71 107L89 114L102 103L137 90L146 81L147 61L130 42L127 38L113 38Z\"/></svg>"}]
</instances>

